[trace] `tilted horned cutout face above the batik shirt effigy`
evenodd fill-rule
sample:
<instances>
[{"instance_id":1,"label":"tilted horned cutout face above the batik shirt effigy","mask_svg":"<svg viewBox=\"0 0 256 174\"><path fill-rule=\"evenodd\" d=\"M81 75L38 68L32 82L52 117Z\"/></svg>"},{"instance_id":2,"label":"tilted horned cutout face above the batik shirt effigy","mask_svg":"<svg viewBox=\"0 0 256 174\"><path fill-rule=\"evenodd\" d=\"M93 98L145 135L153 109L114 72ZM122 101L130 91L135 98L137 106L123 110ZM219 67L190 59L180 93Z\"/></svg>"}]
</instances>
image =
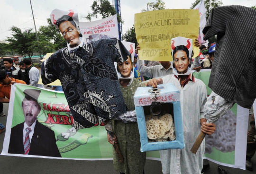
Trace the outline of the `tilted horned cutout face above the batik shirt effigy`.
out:
<instances>
[{"instance_id":1,"label":"tilted horned cutout face above the batik shirt effigy","mask_svg":"<svg viewBox=\"0 0 256 174\"><path fill-rule=\"evenodd\" d=\"M76 10L54 9L50 14L51 21L56 28L60 29L61 34L67 42L68 50L82 47L84 37L79 28L78 14Z\"/></svg>"}]
</instances>

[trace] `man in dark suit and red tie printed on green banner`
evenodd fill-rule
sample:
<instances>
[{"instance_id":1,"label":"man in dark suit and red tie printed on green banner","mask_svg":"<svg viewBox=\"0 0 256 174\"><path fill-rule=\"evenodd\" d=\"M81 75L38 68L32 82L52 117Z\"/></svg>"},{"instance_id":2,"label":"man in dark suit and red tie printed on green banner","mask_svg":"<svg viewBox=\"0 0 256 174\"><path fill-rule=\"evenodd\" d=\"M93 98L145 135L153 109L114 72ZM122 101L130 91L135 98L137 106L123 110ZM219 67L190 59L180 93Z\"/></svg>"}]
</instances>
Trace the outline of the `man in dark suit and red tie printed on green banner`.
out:
<instances>
[{"instance_id":1,"label":"man in dark suit and red tie printed on green banner","mask_svg":"<svg viewBox=\"0 0 256 174\"><path fill-rule=\"evenodd\" d=\"M56 145L55 133L45 125L37 121L37 115L41 111L41 106L37 99L41 91L37 89L25 89L25 98L22 101L22 109L25 122L11 128L8 153L26 154L24 142L26 140L26 128L30 128L29 144L27 155L38 155L48 157L61 157Z\"/></svg>"}]
</instances>

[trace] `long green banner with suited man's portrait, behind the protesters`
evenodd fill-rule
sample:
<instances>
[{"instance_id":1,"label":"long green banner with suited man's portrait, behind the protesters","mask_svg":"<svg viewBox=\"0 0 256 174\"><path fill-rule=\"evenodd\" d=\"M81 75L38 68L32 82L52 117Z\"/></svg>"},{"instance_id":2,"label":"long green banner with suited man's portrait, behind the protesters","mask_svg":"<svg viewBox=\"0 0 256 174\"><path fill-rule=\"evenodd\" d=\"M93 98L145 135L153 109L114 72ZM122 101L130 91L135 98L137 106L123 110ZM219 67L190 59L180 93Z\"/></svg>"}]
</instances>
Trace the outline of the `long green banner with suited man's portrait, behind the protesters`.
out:
<instances>
[{"instance_id":1,"label":"long green banner with suited man's portrait, behind the protesters","mask_svg":"<svg viewBox=\"0 0 256 174\"><path fill-rule=\"evenodd\" d=\"M193 72L193 75L208 86L210 70ZM208 95L210 92L210 88L207 87ZM241 157L245 157L246 153L243 149L246 149L247 143L247 111L235 104L223 120L221 118L220 122L216 122L217 131L211 137L206 137L205 158L221 165L245 168L245 160L241 160ZM29 155L24 155L22 141L25 136L23 137L22 132L25 132L27 118L31 118L30 121L33 122L33 115L37 121ZM112 145L108 142L105 127L100 121L91 128L80 130L75 130L72 123L73 115L70 113L64 93L23 84L12 85L1 155L82 160L112 159ZM39 130L38 125L41 126ZM57 152L49 150L55 148ZM48 151L50 152L43 153ZM159 152L147 152L147 158L160 160Z\"/></svg>"}]
</instances>

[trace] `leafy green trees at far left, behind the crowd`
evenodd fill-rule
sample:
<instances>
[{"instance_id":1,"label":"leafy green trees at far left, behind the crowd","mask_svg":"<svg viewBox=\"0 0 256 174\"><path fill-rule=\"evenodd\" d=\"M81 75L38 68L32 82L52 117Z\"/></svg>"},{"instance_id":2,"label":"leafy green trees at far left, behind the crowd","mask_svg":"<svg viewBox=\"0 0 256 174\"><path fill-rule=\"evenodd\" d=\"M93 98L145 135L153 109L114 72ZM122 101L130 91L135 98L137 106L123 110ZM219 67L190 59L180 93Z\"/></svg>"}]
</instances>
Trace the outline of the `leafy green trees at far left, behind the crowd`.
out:
<instances>
[{"instance_id":1,"label":"leafy green trees at far left, behind the crowd","mask_svg":"<svg viewBox=\"0 0 256 174\"><path fill-rule=\"evenodd\" d=\"M51 19L47 18L47 26L40 26L37 35L29 29L27 31L21 31L17 26L12 26L9 31L12 32L11 37L7 37L8 43L0 43L0 57L5 55L13 55L18 53L19 55L26 55L31 59L35 52L41 52L45 55L47 52L55 52L61 48L66 47L66 42L59 32L59 29L55 28Z\"/></svg>"}]
</instances>

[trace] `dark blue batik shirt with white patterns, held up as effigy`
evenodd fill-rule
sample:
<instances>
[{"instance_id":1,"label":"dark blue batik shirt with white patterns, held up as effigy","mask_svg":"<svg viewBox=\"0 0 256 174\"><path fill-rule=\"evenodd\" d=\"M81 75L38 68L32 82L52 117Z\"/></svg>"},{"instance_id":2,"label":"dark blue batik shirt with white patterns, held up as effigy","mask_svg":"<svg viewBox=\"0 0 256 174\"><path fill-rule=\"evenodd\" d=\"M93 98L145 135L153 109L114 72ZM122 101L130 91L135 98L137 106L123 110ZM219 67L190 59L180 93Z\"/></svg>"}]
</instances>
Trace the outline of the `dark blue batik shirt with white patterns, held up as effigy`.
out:
<instances>
[{"instance_id":1,"label":"dark blue batik shirt with white patterns, held up as effigy","mask_svg":"<svg viewBox=\"0 0 256 174\"><path fill-rule=\"evenodd\" d=\"M72 52L63 48L42 63L44 84L61 81L76 129L126 112L114 61L126 61L128 55L118 39L101 39Z\"/></svg>"}]
</instances>

